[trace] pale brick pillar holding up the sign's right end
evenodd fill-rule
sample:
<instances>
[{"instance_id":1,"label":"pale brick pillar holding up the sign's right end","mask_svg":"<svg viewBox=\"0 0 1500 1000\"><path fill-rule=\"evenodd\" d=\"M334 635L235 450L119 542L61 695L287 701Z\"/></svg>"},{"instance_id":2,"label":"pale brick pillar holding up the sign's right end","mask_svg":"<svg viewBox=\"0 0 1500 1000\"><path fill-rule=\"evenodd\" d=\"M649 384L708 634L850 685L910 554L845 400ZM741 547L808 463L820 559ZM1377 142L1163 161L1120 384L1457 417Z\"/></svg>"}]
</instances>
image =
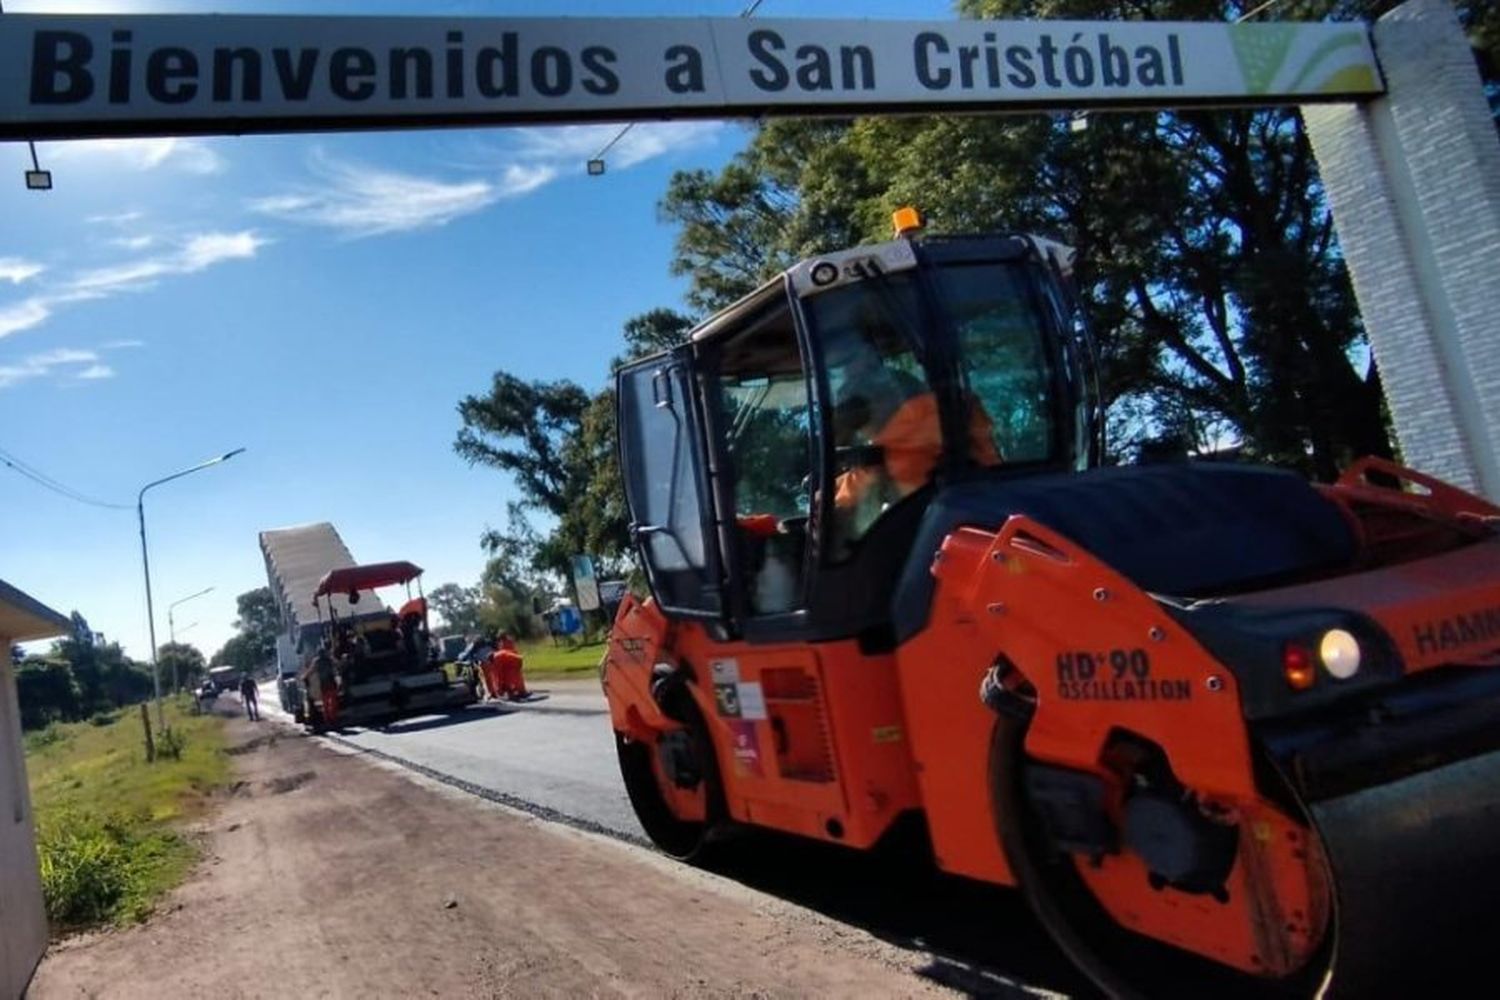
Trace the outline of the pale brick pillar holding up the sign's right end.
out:
<instances>
[{"instance_id":1,"label":"pale brick pillar holding up the sign's right end","mask_svg":"<svg viewBox=\"0 0 1500 1000\"><path fill-rule=\"evenodd\" d=\"M1500 139L1448 0L1374 46L1384 97L1302 117L1402 459L1500 499Z\"/></svg>"}]
</instances>

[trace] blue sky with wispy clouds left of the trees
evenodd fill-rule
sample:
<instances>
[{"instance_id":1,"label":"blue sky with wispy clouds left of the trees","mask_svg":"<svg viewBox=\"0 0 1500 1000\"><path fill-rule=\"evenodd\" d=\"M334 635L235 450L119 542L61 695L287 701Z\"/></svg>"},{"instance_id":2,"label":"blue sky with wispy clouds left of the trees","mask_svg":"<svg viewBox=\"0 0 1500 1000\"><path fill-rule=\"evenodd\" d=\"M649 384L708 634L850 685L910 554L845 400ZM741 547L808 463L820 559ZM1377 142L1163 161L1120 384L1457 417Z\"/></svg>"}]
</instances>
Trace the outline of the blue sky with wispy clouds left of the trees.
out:
<instances>
[{"instance_id":1,"label":"blue sky with wispy clouds left of the trees","mask_svg":"<svg viewBox=\"0 0 1500 1000\"><path fill-rule=\"evenodd\" d=\"M738 0L567 4L66 3L8 12L718 15ZM759 16L946 18L946 0L765 0ZM3 15L0 15L3 16ZM626 319L681 306L657 201L716 169L736 123L46 142L28 192L0 144L0 576L146 657L134 502L147 481L158 642L166 607L212 654L266 583L256 534L330 520L354 556L472 583L507 477L453 454L460 396L496 367L602 387ZM194 625L195 624L195 625ZM184 627L190 627L183 631Z\"/></svg>"}]
</instances>

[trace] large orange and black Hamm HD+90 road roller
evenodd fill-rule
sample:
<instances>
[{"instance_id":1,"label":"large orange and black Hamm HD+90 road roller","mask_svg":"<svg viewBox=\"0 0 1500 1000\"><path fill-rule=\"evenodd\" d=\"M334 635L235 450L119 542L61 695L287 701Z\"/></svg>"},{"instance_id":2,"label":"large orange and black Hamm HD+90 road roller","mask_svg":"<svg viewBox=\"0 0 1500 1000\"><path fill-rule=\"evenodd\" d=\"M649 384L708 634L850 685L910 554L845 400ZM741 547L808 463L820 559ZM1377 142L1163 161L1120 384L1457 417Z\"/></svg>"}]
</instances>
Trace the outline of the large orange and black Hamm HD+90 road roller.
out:
<instances>
[{"instance_id":1,"label":"large orange and black Hamm HD+90 road roller","mask_svg":"<svg viewBox=\"0 0 1500 1000\"><path fill-rule=\"evenodd\" d=\"M1472 967L1500 510L1376 459L1102 468L1071 252L897 228L618 373L651 597L602 676L646 834L920 816L1120 996Z\"/></svg>"}]
</instances>

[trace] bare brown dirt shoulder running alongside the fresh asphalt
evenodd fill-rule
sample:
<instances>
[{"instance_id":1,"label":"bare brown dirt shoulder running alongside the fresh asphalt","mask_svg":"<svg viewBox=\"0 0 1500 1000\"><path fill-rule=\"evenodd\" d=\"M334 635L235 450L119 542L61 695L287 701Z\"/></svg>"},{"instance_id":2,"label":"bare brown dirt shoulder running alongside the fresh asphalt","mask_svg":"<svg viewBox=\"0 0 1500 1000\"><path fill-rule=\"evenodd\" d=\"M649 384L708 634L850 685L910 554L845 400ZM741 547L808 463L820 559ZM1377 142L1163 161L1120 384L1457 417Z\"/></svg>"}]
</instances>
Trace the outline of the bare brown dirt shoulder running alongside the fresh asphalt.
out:
<instances>
[{"instance_id":1,"label":"bare brown dirt shoulder running alongside the fresh asphalt","mask_svg":"<svg viewBox=\"0 0 1500 1000\"><path fill-rule=\"evenodd\" d=\"M922 957L274 723L231 723L207 859L147 924L52 948L45 997L951 996Z\"/></svg>"}]
</instances>

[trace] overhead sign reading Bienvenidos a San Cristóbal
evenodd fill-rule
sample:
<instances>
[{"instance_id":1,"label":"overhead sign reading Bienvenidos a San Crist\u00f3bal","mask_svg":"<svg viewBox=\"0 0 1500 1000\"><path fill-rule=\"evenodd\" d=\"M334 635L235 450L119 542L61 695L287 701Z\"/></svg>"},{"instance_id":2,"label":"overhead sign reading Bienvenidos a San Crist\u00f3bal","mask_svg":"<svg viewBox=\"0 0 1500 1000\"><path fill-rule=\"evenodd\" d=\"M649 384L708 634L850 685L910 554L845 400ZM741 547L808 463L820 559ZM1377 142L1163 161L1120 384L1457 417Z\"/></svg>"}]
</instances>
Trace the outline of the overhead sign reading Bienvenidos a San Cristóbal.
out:
<instances>
[{"instance_id":1,"label":"overhead sign reading Bienvenidos a San Crist\u00f3bal","mask_svg":"<svg viewBox=\"0 0 1500 1000\"><path fill-rule=\"evenodd\" d=\"M1364 24L0 13L0 138L1382 93Z\"/></svg>"}]
</instances>

